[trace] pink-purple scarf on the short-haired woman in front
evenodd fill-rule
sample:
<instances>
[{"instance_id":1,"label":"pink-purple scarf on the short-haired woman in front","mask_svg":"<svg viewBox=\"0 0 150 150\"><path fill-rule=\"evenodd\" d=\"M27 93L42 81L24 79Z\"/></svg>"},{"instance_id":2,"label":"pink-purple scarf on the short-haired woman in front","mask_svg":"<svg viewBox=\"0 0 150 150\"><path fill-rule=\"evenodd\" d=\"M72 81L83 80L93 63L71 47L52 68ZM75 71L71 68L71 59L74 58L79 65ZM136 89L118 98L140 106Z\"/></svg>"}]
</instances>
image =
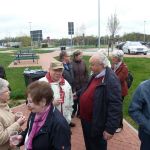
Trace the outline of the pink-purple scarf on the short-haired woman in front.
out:
<instances>
[{"instance_id":1,"label":"pink-purple scarf on the short-haired woman in front","mask_svg":"<svg viewBox=\"0 0 150 150\"><path fill-rule=\"evenodd\" d=\"M51 107L51 105L46 107L43 112L36 113L35 118L34 118L34 122L33 122L33 126L31 129L31 132L29 134L28 141L27 141L27 149L28 150L32 150L33 138L38 133L40 128L44 125L46 118L48 116L48 113L50 111L50 107Z\"/></svg>"}]
</instances>

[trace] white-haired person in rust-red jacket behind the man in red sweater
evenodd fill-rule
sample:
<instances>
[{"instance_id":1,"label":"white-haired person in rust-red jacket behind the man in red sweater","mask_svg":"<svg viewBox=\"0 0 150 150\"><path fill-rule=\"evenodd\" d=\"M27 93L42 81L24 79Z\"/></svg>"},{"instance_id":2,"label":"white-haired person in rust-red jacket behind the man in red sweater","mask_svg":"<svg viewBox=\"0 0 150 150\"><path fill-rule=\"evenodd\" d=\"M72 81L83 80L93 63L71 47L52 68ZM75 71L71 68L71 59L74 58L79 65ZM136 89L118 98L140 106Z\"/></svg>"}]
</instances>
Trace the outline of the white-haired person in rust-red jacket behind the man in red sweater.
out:
<instances>
[{"instance_id":1,"label":"white-haired person in rust-red jacket behind the man in red sweater","mask_svg":"<svg viewBox=\"0 0 150 150\"><path fill-rule=\"evenodd\" d=\"M121 83L121 94L122 94L122 101L124 97L128 94L128 86L126 79L128 77L128 67L123 62L124 53L122 50L114 50L111 55L112 60L112 69L118 76L120 83ZM116 130L116 132L120 132L123 128L123 114L122 119L120 121L120 128Z\"/></svg>"}]
</instances>

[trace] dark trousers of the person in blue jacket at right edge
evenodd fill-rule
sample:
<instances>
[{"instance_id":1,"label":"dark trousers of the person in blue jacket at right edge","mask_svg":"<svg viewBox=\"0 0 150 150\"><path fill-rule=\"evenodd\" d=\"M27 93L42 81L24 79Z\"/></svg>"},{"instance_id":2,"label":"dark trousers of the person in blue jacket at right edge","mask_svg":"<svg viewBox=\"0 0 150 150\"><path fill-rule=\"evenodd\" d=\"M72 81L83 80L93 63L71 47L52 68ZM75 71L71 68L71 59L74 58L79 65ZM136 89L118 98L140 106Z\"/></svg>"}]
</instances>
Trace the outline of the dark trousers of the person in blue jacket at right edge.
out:
<instances>
[{"instance_id":1,"label":"dark trousers of the person in blue jacket at right edge","mask_svg":"<svg viewBox=\"0 0 150 150\"><path fill-rule=\"evenodd\" d=\"M150 134L147 134L142 129L139 129L139 139L141 141L140 150L150 150Z\"/></svg>"}]
</instances>

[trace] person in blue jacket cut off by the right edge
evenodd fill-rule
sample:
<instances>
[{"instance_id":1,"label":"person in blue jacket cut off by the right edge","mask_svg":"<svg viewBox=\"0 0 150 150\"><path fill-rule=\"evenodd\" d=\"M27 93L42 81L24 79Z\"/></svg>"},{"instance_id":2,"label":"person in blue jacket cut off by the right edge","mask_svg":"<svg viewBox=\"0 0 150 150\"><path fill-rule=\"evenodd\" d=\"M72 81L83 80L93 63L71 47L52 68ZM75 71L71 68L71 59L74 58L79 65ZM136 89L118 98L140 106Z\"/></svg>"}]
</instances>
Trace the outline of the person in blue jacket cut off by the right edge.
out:
<instances>
[{"instance_id":1,"label":"person in blue jacket cut off by the right edge","mask_svg":"<svg viewBox=\"0 0 150 150\"><path fill-rule=\"evenodd\" d=\"M140 150L150 149L150 80L142 82L135 90L129 114L139 125Z\"/></svg>"}]
</instances>

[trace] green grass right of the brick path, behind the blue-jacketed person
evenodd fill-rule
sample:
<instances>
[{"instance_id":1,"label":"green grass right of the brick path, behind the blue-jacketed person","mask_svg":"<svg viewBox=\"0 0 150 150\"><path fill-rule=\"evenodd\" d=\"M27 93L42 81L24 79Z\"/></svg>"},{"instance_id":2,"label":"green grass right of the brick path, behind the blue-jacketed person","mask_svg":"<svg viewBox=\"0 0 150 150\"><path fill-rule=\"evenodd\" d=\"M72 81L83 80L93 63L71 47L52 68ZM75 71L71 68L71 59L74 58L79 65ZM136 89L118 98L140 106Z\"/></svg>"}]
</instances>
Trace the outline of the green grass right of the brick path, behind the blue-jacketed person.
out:
<instances>
[{"instance_id":1,"label":"green grass right of the brick path, behind the blue-jacketed person","mask_svg":"<svg viewBox=\"0 0 150 150\"><path fill-rule=\"evenodd\" d=\"M128 96L125 97L123 113L124 118L128 120L134 127L135 122L128 115L128 107L132 100L132 94L137 86L144 80L150 79L150 59L149 58L125 58L125 63L134 76L134 81L129 89Z\"/></svg>"}]
</instances>

